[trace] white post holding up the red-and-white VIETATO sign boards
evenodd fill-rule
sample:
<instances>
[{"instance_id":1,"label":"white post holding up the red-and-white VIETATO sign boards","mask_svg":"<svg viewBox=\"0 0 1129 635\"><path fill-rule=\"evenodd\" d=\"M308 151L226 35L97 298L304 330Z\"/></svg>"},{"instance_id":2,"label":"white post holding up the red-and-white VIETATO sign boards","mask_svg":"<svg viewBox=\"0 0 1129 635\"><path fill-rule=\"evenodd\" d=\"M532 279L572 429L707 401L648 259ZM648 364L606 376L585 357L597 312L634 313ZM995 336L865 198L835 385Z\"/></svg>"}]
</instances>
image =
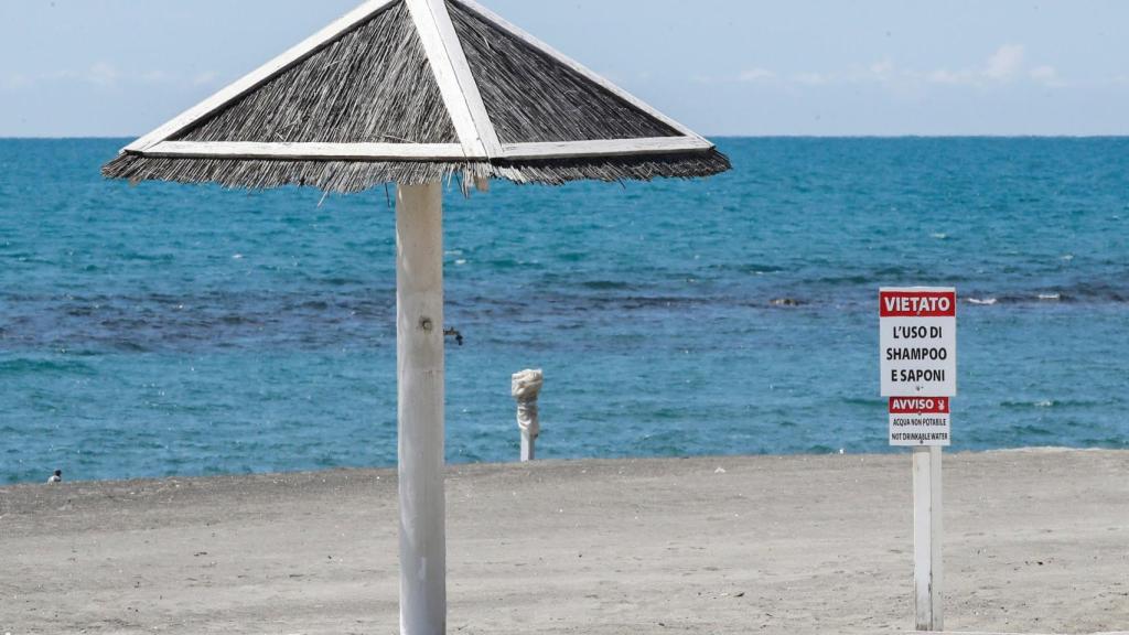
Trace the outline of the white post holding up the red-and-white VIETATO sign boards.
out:
<instances>
[{"instance_id":1,"label":"white post holding up the red-and-white VIETATO sign boards","mask_svg":"<svg viewBox=\"0 0 1129 635\"><path fill-rule=\"evenodd\" d=\"M918 630L944 630L939 446L913 449L913 604Z\"/></svg>"}]
</instances>

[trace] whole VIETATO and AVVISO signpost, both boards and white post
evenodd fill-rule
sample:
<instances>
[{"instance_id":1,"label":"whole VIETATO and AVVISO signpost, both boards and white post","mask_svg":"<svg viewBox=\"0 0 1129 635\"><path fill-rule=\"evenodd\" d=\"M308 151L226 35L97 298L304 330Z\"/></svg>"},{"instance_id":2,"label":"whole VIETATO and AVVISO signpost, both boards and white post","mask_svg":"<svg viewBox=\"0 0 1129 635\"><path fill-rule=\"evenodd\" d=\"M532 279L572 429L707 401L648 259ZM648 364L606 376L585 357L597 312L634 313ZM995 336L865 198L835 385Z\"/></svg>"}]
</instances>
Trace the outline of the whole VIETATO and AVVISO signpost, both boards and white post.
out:
<instances>
[{"instance_id":1,"label":"whole VIETATO and AVVISO signpost, both boards and white post","mask_svg":"<svg viewBox=\"0 0 1129 635\"><path fill-rule=\"evenodd\" d=\"M882 395L890 444L913 447L913 600L918 630L944 630L942 449L956 395L956 289L884 288L878 294Z\"/></svg>"}]
</instances>

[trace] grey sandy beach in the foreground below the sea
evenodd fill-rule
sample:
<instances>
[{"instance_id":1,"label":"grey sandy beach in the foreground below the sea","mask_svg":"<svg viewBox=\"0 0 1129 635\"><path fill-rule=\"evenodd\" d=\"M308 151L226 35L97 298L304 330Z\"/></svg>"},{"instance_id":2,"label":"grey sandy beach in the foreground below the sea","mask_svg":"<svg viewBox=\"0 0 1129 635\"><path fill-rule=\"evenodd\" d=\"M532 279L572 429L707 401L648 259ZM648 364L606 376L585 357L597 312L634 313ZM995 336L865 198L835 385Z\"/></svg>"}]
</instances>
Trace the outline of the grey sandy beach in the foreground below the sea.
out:
<instances>
[{"instance_id":1,"label":"grey sandy beach in the foreground below the sea","mask_svg":"<svg viewBox=\"0 0 1129 635\"><path fill-rule=\"evenodd\" d=\"M945 462L946 627L1129 628L1129 453ZM457 466L450 633L912 628L910 456ZM0 489L0 633L397 630L391 470Z\"/></svg>"}]
</instances>

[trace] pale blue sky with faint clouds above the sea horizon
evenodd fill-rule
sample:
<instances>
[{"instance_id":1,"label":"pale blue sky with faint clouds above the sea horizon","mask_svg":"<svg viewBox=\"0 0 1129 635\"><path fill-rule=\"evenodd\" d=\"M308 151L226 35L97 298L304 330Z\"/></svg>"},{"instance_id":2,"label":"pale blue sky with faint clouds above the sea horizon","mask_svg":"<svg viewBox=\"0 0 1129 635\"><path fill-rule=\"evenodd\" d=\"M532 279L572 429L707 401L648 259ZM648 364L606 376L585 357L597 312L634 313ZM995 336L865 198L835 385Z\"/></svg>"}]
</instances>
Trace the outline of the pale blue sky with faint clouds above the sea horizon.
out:
<instances>
[{"instance_id":1,"label":"pale blue sky with faint clouds above the sea horizon","mask_svg":"<svg viewBox=\"0 0 1129 635\"><path fill-rule=\"evenodd\" d=\"M1129 134L1119 0L482 0L707 136ZM0 0L0 137L137 137L359 0Z\"/></svg>"}]
</instances>

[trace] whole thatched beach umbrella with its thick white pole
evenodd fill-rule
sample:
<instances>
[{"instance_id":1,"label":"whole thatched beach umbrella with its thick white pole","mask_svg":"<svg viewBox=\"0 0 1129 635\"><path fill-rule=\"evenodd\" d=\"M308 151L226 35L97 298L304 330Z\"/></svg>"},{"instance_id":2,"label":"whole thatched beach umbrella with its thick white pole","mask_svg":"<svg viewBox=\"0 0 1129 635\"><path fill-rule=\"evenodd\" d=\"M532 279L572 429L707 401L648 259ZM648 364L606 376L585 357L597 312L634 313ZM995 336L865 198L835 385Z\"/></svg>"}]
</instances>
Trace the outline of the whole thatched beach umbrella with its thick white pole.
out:
<instances>
[{"instance_id":1,"label":"whole thatched beach umbrella with its thick white pole","mask_svg":"<svg viewBox=\"0 0 1129 635\"><path fill-rule=\"evenodd\" d=\"M125 147L133 182L396 188L401 629L443 633L443 190L709 176L712 143L472 0L369 0Z\"/></svg>"}]
</instances>

